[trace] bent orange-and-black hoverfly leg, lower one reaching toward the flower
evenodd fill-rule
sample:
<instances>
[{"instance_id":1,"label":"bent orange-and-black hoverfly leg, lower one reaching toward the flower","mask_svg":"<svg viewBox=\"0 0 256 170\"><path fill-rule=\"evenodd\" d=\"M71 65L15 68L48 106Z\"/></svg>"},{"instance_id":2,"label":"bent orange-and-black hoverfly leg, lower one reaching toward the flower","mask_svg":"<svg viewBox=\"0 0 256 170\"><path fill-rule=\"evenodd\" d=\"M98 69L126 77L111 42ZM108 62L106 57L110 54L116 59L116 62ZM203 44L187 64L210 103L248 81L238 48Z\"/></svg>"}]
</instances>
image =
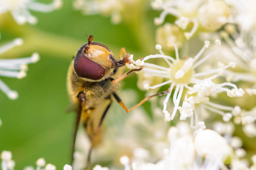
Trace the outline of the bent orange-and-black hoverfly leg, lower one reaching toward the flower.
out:
<instances>
[{"instance_id":1,"label":"bent orange-and-black hoverfly leg, lower one reaching toward the flower","mask_svg":"<svg viewBox=\"0 0 256 170\"><path fill-rule=\"evenodd\" d=\"M168 90L166 91L163 91L163 92L159 92L158 94L155 94L155 95L151 95L151 96L147 96L145 97L145 99L143 99L142 101L140 101L137 105L135 105L133 108L131 109L128 109L125 104L123 103L123 101L120 99L120 97L115 93L113 92L113 96L115 97L115 99L118 101L118 103L121 105L121 107L123 109L125 109L125 112L128 113L130 111L133 111L133 109L139 107L140 105L142 105L145 101L147 101L148 99L150 99L151 97L154 97L154 96L162 96L162 95L167 95L168 93L170 93L170 88L168 88Z\"/></svg>"}]
</instances>

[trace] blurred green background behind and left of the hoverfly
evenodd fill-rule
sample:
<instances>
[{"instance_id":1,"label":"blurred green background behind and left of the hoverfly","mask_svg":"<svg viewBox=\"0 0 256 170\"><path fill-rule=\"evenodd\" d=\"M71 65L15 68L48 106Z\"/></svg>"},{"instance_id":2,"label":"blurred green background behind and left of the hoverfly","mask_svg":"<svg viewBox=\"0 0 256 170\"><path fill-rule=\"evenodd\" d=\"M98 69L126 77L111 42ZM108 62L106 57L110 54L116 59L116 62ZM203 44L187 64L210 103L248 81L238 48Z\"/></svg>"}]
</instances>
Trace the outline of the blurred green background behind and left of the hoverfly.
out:
<instances>
[{"instance_id":1,"label":"blurred green background behind and left of the hoverfly","mask_svg":"<svg viewBox=\"0 0 256 170\"><path fill-rule=\"evenodd\" d=\"M17 100L9 100L0 92L0 151L13 153L15 169L35 166L42 157L57 169L70 164L75 113L65 112L69 104L66 76L76 50L87 41L86 32L94 36L94 41L107 45L116 58L122 47L135 59L156 52L154 11L146 1L139 4L139 14L118 25L112 24L110 17L82 15L73 10L69 0L63 2L60 10L49 14L31 11L39 20L36 25L18 25L9 13L0 15L0 46L17 37L24 40L22 46L1 54L0 58L27 57L34 52L40 55L38 63L28 65L26 78L1 77L19 92ZM137 89L136 82L135 76L129 76L122 87ZM143 92L139 96L143 99Z\"/></svg>"}]
</instances>

